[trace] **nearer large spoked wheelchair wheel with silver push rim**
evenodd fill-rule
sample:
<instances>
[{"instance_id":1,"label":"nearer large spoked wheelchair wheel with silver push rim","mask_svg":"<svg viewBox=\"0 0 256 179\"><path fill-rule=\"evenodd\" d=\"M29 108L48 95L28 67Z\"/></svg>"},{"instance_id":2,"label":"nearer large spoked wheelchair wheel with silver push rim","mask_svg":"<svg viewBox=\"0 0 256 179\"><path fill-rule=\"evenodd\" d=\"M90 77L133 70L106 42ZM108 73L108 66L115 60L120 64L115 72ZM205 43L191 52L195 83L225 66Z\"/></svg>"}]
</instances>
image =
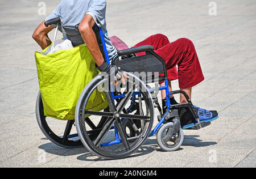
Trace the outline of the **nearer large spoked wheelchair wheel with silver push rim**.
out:
<instances>
[{"instance_id":1,"label":"nearer large spoked wheelchair wheel with silver push rim","mask_svg":"<svg viewBox=\"0 0 256 179\"><path fill-rule=\"evenodd\" d=\"M104 75L96 76L86 86L77 103L75 115L77 133L88 151L104 159L120 159L133 154L146 141L154 122L154 106L146 85L136 76L128 73L127 75L129 75L129 79L127 79L126 86L120 85L118 92L120 99L117 104L114 104L112 92L108 90L109 78ZM110 112L86 110L90 96L99 89L105 93ZM126 113L124 110L128 108L127 103L132 97L139 100L143 106L140 114ZM90 115L93 119L102 116L108 117L94 140L90 138L90 126L84 122L86 115ZM133 134L133 137L129 137L125 131L124 123L126 125L127 120L139 120L141 122L139 133Z\"/></svg>"}]
</instances>

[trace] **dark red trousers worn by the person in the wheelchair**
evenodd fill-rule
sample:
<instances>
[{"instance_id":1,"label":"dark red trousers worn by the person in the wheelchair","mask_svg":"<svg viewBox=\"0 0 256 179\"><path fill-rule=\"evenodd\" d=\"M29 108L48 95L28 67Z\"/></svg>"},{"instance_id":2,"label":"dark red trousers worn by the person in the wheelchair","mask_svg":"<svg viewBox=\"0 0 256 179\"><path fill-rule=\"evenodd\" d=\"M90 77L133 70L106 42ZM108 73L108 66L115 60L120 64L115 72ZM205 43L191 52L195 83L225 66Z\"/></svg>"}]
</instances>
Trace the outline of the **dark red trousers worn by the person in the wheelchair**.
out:
<instances>
[{"instance_id":1,"label":"dark red trousers worn by the person in the wheelchair","mask_svg":"<svg viewBox=\"0 0 256 179\"><path fill-rule=\"evenodd\" d=\"M155 47L155 53L166 61L168 80L179 79L180 88L190 88L204 80L195 46L191 40L183 38L170 43L166 36L156 34L133 47L142 45ZM143 54L145 52L137 55L142 56Z\"/></svg>"}]
</instances>

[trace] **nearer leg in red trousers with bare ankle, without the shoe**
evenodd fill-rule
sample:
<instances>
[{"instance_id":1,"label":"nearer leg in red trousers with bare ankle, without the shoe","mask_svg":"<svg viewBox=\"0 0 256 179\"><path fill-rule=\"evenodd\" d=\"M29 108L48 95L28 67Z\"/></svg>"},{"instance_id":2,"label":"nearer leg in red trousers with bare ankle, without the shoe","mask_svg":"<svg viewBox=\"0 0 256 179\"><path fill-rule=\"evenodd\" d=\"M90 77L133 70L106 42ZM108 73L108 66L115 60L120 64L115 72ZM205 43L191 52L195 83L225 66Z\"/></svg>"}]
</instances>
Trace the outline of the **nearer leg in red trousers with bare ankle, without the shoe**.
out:
<instances>
[{"instance_id":1,"label":"nearer leg in red trousers with bare ankle, without the shoe","mask_svg":"<svg viewBox=\"0 0 256 179\"><path fill-rule=\"evenodd\" d=\"M192 87L204 80L195 46L191 40L178 39L155 52L166 61L167 69L178 66L180 90L185 91L191 98ZM183 95L180 103L187 103Z\"/></svg>"}]
</instances>

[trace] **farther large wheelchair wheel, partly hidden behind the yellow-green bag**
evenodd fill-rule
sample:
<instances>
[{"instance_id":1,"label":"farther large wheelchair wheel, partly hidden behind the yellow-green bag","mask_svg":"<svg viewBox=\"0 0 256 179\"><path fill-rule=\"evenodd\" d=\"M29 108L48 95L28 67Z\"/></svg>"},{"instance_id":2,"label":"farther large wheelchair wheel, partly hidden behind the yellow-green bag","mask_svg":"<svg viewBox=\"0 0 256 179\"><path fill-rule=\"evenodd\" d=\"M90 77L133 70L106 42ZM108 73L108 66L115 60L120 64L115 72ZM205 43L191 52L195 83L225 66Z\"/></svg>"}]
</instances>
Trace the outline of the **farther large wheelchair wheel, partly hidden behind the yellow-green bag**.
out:
<instances>
[{"instance_id":1,"label":"farther large wheelchair wheel, partly hidden behind the yellow-green bag","mask_svg":"<svg viewBox=\"0 0 256 179\"><path fill-rule=\"evenodd\" d=\"M70 121L60 121L56 120L54 118L46 117L44 116L44 108L43 108L43 102L41 93L39 91L38 97L36 100L36 119L38 121L38 125L40 129L42 130L43 134L51 140L52 143L55 143L57 146L64 147L64 148L76 148L76 147L82 147L81 140L78 137L78 134L72 134L72 127L74 126L75 120ZM49 123L52 123L53 121L56 121L56 123L53 123L53 125L50 125ZM85 121L90 123L90 118L85 118ZM102 118L102 120L97 124L97 127L93 127L93 132L91 137L96 137L98 130L101 126L104 124L105 118ZM60 125L61 123L67 123L66 125ZM50 127L51 126L51 127ZM63 130L59 130L60 127L63 127ZM58 130L51 129L52 127L57 128ZM53 132L54 131L54 132Z\"/></svg>"}]
</instances>

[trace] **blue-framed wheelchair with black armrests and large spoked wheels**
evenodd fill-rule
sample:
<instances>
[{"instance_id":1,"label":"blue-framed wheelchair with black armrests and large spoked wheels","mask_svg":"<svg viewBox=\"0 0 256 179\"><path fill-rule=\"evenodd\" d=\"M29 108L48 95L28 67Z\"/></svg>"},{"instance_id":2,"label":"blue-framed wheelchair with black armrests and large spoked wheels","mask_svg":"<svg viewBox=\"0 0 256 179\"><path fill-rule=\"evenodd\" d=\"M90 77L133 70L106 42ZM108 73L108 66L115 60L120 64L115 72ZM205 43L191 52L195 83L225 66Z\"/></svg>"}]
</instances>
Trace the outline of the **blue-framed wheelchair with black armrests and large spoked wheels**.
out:
<instances>
[{"instance_id":1,"label":"blue-framed wheelchair with black armrests and large spoked wheels","mask_svg":"<svg viewBox=\"0 0 256 179\"><path fill-rule=\"evenodd\" d=\"M48 20L45 25L61 23L60 18ZM63 29L60 29L63 31ZM65 35L72 41L73 46L84 44L78 31L78 25L64 28ZM93 31L96 35L98 46L105 61L110 64L106 50L102 29L95 25ZM143 56L136 53L146 52ZM150 63L148 63L150 62ZM194 129L208 126L210 122L201 122L199 116L184 91L169 91L167 69L164 60L154 52L150 45L137 48L118 50L118 56L112 65L121 67L129 78L122 84L121 80L115 86L110 83L106 74L98 74L87 84L77 101L75 119L67 121L63 135L55 134L48 126L44 116L44 108L40 91L36 100L36 118L43 134L52 143L65 148L86 147L94 155L104 159L121 159L127 157L141 148L148 137L156 134L156 141L164 151L175 151L180 148L184 140L178 109L187 107L191 110L197 123ZM128 73L129 72L129 73ZM142 78L141 74L146 74ZM164 74L164 76L159 76ZM163 87L158 82L165 82ZM150 87L154 84L155 87ZM86 108L86 104L94 91L101 90L105 93L108 108L102 111L93 111ZM157 93L166 91L166 112L163 112ZM170 104L170 95L182 93L188 103ZM158 124L153 128L155 108L159 110ZM49 119L51 120L51 119ZM72 127L76 127L77 134L71 134Z\"/></svg>"}]
</instances>

